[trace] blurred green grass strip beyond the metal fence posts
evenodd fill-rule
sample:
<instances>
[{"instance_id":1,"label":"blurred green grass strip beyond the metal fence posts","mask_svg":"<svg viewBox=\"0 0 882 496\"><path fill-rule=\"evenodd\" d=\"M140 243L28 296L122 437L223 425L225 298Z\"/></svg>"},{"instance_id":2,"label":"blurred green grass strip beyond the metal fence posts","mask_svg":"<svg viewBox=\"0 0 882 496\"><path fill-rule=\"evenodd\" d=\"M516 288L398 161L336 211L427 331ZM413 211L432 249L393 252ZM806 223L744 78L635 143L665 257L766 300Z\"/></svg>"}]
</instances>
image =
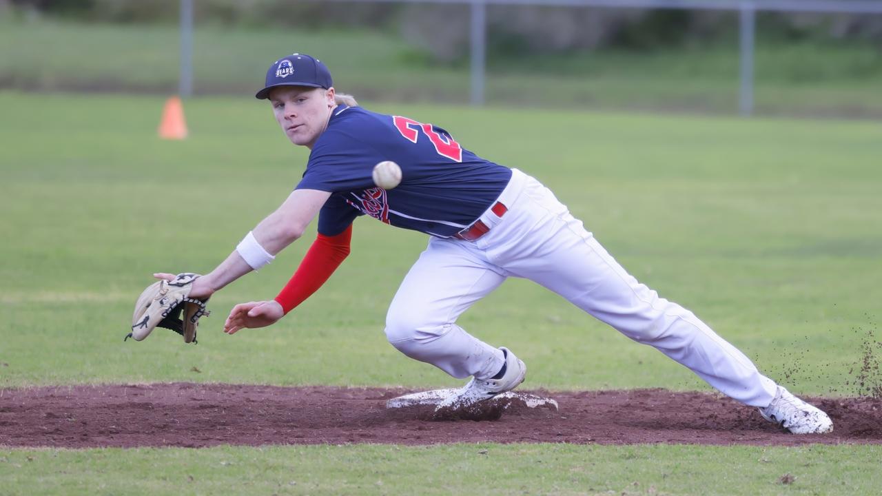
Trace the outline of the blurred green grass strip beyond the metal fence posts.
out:
<instances>
[{"instance_id":1,"label":"blurred green grass strip beyond the metal fence posts","mask_svg":"<svg viewBox=\"0 0 882 496\"><path fill-rule=\"evenodd\" d=\"M353 47L357 47L354 50ZM467 64L424 64L384 30L221 29L193 39L198 94L253 94L276 56L325 60L340 91L385 101L466 103ZM88 56L84 56L88 54ZM734 114L737 41L650 52L542 54L488 61L486 99L531 108L662 109ZM0 19L0 87L40 91L177 89L176 26ZM755 101L766 115L882 116L882 56L870 44L757 41Z\"/></svg>"}]
</instances>

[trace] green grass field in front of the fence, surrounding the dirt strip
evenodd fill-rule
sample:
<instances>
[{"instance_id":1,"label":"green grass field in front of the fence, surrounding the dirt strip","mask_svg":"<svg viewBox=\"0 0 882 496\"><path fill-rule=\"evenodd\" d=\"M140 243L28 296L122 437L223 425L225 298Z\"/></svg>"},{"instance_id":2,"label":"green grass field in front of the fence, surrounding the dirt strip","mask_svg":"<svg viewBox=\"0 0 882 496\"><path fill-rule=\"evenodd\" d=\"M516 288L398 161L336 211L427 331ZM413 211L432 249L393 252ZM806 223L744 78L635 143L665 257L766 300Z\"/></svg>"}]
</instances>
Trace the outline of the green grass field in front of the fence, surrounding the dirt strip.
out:
<instances>
[{"instance_id":1,"label":"green grass field in front of the fence, surrounding the dirt strip","mask_svg":"<svg viewBox=\"0 0 882 496\"><path fill-rule=\"evenodd\" d=\"M273 297L307 243L212 299L198 346L123 342L154 271L205 272L302 174L249 97L185 102L191 138L156 138L162 99L0 93L0 387L195 381L452 387L383 322L422 250L360 220L353 254L278 325L221 333ZM373 109L392 111L385 106ZM858 395L878 340L878 124L397 106L548 184L639 280L696 312L796 394ZM517 349L525 387L708 387L556 295L510 281L460 323ZM875 334L875 338L872 334ZM194 372L196 367L201 372ZM878 378L876 378L878 380ZM487 450L486 454L480 453ZM880 449L452 445L0 449L0 493L855 494ZM783 485L784 474L796 476ZM636 485L634 483L637 483Z\"/></svg>"}]
</instances>

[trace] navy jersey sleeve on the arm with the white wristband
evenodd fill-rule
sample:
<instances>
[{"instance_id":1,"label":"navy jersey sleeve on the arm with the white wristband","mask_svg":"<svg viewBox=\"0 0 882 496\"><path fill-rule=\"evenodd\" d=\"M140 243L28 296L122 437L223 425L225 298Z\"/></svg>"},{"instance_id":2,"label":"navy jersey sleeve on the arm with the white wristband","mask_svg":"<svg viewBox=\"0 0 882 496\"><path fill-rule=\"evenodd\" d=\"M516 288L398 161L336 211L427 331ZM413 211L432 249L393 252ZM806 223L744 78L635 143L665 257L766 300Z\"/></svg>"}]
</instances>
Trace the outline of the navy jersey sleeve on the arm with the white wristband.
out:
<instances>
[{"instance_id":1,"label":"navy jersey sleeve on the arm with the white wristband","mask_svg":"<svg viewBox=\"0 0 882 496\"><path fill-rule=\"evenodd\" d=\"M303 179L295 189L344 192L371 188L377 162L378 154L370 145L348 132L325 131L312 148Z\"/></svg>"}]
</instances>

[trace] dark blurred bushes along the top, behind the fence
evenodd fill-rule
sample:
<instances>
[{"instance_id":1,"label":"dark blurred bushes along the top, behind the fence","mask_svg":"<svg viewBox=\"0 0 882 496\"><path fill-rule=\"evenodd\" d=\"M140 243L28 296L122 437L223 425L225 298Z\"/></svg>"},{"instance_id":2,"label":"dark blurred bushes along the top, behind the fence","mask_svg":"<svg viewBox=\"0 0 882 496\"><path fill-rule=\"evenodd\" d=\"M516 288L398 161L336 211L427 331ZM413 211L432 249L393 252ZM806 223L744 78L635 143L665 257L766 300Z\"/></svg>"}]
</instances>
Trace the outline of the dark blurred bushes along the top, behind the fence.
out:
<instances>
[{"instance_id":1,"label":"dark blurred bushes along the top, behind the fence","mask_svg":"<svg viewBox=\"0 0 882 496\"><path fill-rule=\"evenodd\" d=\"M175 23L179 0L0 0L6 11L87 22ZM467 59L467 4L347 3L318 0L194 0L199 24L242 28L381 29L399 33L427 64ZM764 41L872 44L882 53L882 16L759 12ZM649 51L730 42L737 13L488 5L488 55L592 49Z\"/></svg>"}]
</instances>

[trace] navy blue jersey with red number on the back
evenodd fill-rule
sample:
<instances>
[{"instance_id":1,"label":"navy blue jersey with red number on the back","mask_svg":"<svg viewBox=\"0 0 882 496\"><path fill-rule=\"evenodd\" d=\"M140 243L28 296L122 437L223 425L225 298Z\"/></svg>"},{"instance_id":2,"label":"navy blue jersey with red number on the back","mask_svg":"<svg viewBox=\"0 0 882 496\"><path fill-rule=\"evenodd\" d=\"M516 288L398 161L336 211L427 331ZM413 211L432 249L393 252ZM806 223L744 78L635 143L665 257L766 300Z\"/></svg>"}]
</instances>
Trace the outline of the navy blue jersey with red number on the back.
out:
<instances>
[{"instance_id":1,"label":"navy blue jersey with red number on the back","mask_svg":"<svg viewBox=\"0 0 882 496\"><path fill-rule=\"evenodd\" d=\"M378 188L378 162L401 167L401 184ZM451 237L475 222L505 189L512 170L460 147L445 130L403 116L338 106L312 147L297 189L332 192L318 232L339 234L357 215Z\"/></svg>"}]
</instances>

